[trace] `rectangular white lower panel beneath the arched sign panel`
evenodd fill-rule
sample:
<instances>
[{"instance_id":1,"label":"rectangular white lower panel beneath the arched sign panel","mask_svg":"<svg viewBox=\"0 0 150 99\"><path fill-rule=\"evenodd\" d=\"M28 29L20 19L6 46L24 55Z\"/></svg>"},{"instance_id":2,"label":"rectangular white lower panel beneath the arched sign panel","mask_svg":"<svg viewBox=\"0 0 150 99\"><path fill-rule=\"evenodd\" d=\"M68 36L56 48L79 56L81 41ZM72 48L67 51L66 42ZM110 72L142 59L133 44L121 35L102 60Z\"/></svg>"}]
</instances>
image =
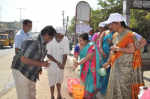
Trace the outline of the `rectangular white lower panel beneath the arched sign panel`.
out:
<instances>
[{"instance_id":1,"label":"rectangular white lower panel beneath the arched sign panel","mask_svg":"<svg viewBox=\"0 0 150 99\"><path fill-rule=\"evenodd\" d=\"M77 23L76 24L76 33L89 33L90 26L86 23Z\"/></svg>"}]
</instances>

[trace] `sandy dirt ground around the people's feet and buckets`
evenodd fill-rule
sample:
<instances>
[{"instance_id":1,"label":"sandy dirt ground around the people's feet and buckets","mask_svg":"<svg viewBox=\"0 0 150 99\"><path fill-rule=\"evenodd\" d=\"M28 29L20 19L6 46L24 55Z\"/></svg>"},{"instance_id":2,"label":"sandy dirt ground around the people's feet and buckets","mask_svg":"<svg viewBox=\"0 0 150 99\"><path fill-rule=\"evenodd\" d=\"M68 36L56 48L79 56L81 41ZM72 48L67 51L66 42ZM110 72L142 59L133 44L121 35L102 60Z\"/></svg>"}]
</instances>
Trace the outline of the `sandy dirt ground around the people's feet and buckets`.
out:
<instances>
[{"instance_id":1,"label":"sandy dirt ground around the people's feet and buckets","mask_svg":"<svg viewBox=\"0 0 150 99\"><path fill-rule=\"evenodd\" d=\"M16 89L15 87L7 90L5 93L1 94L2 90L5 88L5 85L10 82L10 76L12 75L11 72L11 62L13 59L14 54L7 54L0 57L0 99L17 99ZM64 80L61 88L62 96L65 99L73 99L68 93L67 87L67 79L68 78L79 78L79 75L69 69L71 66L71 60L73 56L68 58L65 72L64 72ZM72 64L72 63L71 63ZM150 71L144 71L144 82L147 87L150 87ZM36 98L37 99L50 99L50 88L48 85L48 78L47 78L47 70L44 70L42 75L40 76L40 81L37 81L36 84ZM56 88L55 88L56 89ZM57 90L55 90L55 99L57 98Z\"/></svg>"}]
</instances>

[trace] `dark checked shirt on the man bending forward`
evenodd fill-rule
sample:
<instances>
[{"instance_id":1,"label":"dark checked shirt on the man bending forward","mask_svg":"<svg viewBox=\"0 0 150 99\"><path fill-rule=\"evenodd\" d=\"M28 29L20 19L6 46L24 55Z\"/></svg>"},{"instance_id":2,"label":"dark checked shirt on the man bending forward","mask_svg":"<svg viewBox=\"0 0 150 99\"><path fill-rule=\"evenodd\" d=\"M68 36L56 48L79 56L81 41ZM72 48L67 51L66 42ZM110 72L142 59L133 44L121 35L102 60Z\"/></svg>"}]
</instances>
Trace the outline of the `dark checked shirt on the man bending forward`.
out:
<instances>
[{"instance_id":1,"label":"dark checked shirt on the man bending forward","mask_svg":"<svg viewBox=\"0 0 150 99\"><path fill-rule=\"evenodd\" d=\"M38 74L42 70L41 67L24 64L20 61L20 57L22 55L36 61L43 61L46 54L46 42L42 35L30 36L24 40L21 48L13 57L11 68L19 70L29 80L36 82L36 80L39 79Z\"/></svg>"}]
</instances>

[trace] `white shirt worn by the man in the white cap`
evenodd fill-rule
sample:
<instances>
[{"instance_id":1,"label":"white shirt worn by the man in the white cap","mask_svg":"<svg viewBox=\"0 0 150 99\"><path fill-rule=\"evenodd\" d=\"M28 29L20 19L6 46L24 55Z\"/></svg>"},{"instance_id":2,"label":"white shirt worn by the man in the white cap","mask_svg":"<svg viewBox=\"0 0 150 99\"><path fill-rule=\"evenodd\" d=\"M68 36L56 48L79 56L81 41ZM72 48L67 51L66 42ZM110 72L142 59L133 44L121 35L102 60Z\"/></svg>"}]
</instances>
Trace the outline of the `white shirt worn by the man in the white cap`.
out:
<instances>
[{"instance_id":1,"label":"white shirt worn by the man in the white cap","mask_svg":"<svg viewBox=\"0 0 150 99\"><path fill-rule=\"evenodd\" d=\"M54 37L52 41L47 43L46 48L48 50L47 54L53 56L53 58L55 58L60 63L62 63L63 61L63 55L70 53L69 40L67 37L64 37L62 41L60 41L59 43L56 41ZM49 60L48 57L47 57L47 60ZM53 73L62 71L61 69L58 68L57 64L53 61L50 63L49 68L50 68L49 69L50 72L53 72Z\"/></svg>"}]
</instances>

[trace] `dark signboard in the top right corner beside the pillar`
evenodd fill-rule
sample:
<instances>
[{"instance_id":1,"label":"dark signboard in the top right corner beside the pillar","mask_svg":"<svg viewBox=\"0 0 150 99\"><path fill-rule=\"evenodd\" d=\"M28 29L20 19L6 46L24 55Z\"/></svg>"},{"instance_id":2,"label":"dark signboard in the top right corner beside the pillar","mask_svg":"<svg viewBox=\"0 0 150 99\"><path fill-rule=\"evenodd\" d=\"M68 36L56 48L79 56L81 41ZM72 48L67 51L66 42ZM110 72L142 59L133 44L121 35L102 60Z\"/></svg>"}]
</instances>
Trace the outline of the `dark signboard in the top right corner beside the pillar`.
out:
<instances>
[{"instance_id":1,"label":"dark signboard in the top right corner beside the pillar","mask_svg":"<svg viewBox=\"0 0 150 99\"><path fill-rule=\"evenodd\" d=\"M150 9L150 0L131 0L131 9Z\"/></svg>"}]
</instances>

